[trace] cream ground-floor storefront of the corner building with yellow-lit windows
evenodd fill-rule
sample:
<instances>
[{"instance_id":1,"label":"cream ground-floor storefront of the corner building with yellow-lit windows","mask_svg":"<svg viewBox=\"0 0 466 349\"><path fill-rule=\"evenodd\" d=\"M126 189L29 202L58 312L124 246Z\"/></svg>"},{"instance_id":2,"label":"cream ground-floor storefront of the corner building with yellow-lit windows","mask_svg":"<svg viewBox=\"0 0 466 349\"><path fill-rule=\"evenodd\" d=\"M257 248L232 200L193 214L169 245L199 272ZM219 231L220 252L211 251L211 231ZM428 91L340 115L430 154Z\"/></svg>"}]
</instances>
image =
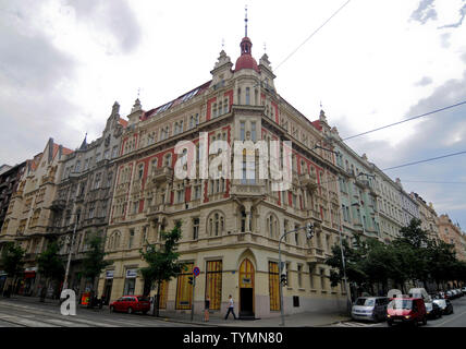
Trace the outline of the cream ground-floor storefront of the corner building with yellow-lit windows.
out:
<instances>
[{"instance_id":1,"label":"cream ground-floor storefront of the corner building with yellow-lit windows","mask_svg":"<svg viewBox=\"0 0 466 349\"><path fill-rule=\"evenodd\" d=\"M237 316L280 315L278 253L258 248L219 248L184 252L180 260L185 262L185 270L161 285L161 309L183 313L191 311L194 304L195 313L200 314L209 296L210 311L224 314L232 296ZM138 273L145 266L140 257L113 261L99 280L99 297L113 301L122 296L143 294L147 286ZM287 277L287 285L283 287L285 314L345 310L344 288L331 287L328 266L307 263L298 256L286 256L283 261ZM193 292L189 278L195 267L200 273ZM155 294L156 290L151 289L150 296Z\"/></svg>"}]
</instances>

